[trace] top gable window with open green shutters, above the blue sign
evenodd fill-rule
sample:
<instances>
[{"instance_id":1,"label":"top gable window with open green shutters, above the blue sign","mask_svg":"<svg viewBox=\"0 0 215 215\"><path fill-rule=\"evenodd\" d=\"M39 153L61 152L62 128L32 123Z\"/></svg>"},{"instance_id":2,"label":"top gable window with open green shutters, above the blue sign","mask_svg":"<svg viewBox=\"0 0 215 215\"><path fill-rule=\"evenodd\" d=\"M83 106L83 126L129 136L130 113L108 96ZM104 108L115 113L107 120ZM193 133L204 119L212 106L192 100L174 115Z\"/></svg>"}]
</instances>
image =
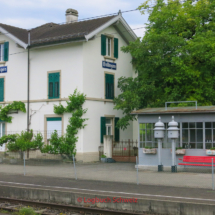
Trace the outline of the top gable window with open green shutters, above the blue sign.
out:
<instances>
[{"instance_id":1,"label":"top gable window with open green shutters, above the blue sign","mask_svg":"<svg viewBox=\"0 0 215 215\"><path fill-rule=\"evenodd\" d=\"M113 38L111 36L101 35L101 55L118 58L118 38Z\"/></svg>"}]
</instances>

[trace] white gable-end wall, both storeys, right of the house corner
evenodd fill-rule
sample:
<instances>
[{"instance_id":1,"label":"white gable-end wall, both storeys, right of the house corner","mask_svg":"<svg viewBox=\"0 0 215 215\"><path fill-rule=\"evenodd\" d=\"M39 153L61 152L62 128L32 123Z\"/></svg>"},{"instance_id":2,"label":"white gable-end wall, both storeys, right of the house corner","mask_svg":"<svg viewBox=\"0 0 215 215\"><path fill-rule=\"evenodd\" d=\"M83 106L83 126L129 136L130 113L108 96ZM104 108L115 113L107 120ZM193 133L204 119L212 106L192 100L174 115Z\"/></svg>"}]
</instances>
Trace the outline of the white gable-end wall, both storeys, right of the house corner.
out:
<instances>
[{"instance_id":1,"label":"white gable-end wall, both storeys, right of the house corner","mask_svg":"<svg viewBox=\"0 0 215 215\"><path fill-rule=\"evenodd\" d=\"M104 56L101 55L101 34L112 34L119 41L119 57L114 63L117 64L117 70L102 68ZM96 35L96 38L85 42L83 45L84 53L84 76L83 89L87 97L105 99L105 72L115 74L115 96L120 94L117 88L118 79L121 76L132 77L133 68L131 64L131 55L121 51L122 46L127 46L127 43L118 34L113 26L108 27L104 31ZM112 60L106 60L113 62ZM100 118L105 115L114 115L122 117L122 111L114 110L114 104L104 101L87 101L85 107L88 108L86 117L88 126L84 129L84 152L98 151L100 145ZM133 138L133 123L125 130L120 130L120 140Z\"/></svg>"}]
</instances>

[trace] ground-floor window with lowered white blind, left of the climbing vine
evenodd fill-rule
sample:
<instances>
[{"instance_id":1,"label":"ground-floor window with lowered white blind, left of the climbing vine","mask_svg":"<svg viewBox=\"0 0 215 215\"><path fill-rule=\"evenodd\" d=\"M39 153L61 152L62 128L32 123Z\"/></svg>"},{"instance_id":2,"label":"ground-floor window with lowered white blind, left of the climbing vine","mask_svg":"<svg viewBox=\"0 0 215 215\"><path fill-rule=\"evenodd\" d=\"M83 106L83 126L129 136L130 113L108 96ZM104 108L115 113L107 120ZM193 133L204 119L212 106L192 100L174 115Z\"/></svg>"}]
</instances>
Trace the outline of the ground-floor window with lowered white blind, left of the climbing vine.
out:
<instances>
[{"instance_id":1,"label":"ground-floor window with lowered white blind, left of the climbing vine","mask_svg":"<svg viewBox=\"0 0 215 215\"><path fill-rule=\"evenodd\" d=\"M47 140L51 139L52 133L56 130L58 135L62 134L62 118L61 117L48 117L47 120Z\"/></svg>"}]
</instances>

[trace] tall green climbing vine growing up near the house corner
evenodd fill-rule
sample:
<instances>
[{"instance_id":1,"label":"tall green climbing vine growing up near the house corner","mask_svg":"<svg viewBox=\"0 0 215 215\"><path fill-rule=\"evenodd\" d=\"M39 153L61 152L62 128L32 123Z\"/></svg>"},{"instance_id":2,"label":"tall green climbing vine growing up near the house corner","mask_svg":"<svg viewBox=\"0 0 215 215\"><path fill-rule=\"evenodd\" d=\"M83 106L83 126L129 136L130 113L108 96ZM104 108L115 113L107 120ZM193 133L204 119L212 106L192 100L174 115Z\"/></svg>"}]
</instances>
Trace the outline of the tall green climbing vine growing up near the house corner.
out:
<instances>
[{"instance_id":1,"label":"tall green climbing vine growing up near the house corner","mask_svg":"<svg viewBox=\"0 0 215 215\"><path fill-rule=\"evenodd\" d=\"M83 109L82 106L86 100L86 95L74 91L69 96L67 106L64 107L62 104L54 105L55 114L71 113L72 116L69 119L69 124L66 129L66 134L59 136L57 131L52 133L50 139L50 145L42 148L42 153L61 154L67 155L69 158L76 153L76 142L78 141L78 130L86 126L84 122L87 119L83 119L82 116L87 112L87 109Z\"/></svg>"}]
</instances>

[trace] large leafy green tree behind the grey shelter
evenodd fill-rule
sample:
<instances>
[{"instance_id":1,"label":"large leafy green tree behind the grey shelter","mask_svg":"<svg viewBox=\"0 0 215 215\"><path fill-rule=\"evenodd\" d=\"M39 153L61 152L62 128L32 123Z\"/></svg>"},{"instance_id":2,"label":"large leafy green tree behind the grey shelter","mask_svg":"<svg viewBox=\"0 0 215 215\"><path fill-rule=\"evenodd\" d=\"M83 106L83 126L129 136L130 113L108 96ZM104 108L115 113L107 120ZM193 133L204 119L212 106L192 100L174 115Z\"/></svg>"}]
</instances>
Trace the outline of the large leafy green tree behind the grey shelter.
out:
<instances>
[{"instance_id":1,"label":"large leafy green tree behind the grey shelter","mask_svg":"<svg viewBox=\"0 0 215 215\"><path fill-rule=\"evenodd\" d=\"M149 3L139 7L149 13L143 39L122 48L132 55L137 75L118 80L115 109L123 110L123 129L135 118L134 109L163 107L166 101L215 104L215 1Z\"/></svg>"}]
</instances>

